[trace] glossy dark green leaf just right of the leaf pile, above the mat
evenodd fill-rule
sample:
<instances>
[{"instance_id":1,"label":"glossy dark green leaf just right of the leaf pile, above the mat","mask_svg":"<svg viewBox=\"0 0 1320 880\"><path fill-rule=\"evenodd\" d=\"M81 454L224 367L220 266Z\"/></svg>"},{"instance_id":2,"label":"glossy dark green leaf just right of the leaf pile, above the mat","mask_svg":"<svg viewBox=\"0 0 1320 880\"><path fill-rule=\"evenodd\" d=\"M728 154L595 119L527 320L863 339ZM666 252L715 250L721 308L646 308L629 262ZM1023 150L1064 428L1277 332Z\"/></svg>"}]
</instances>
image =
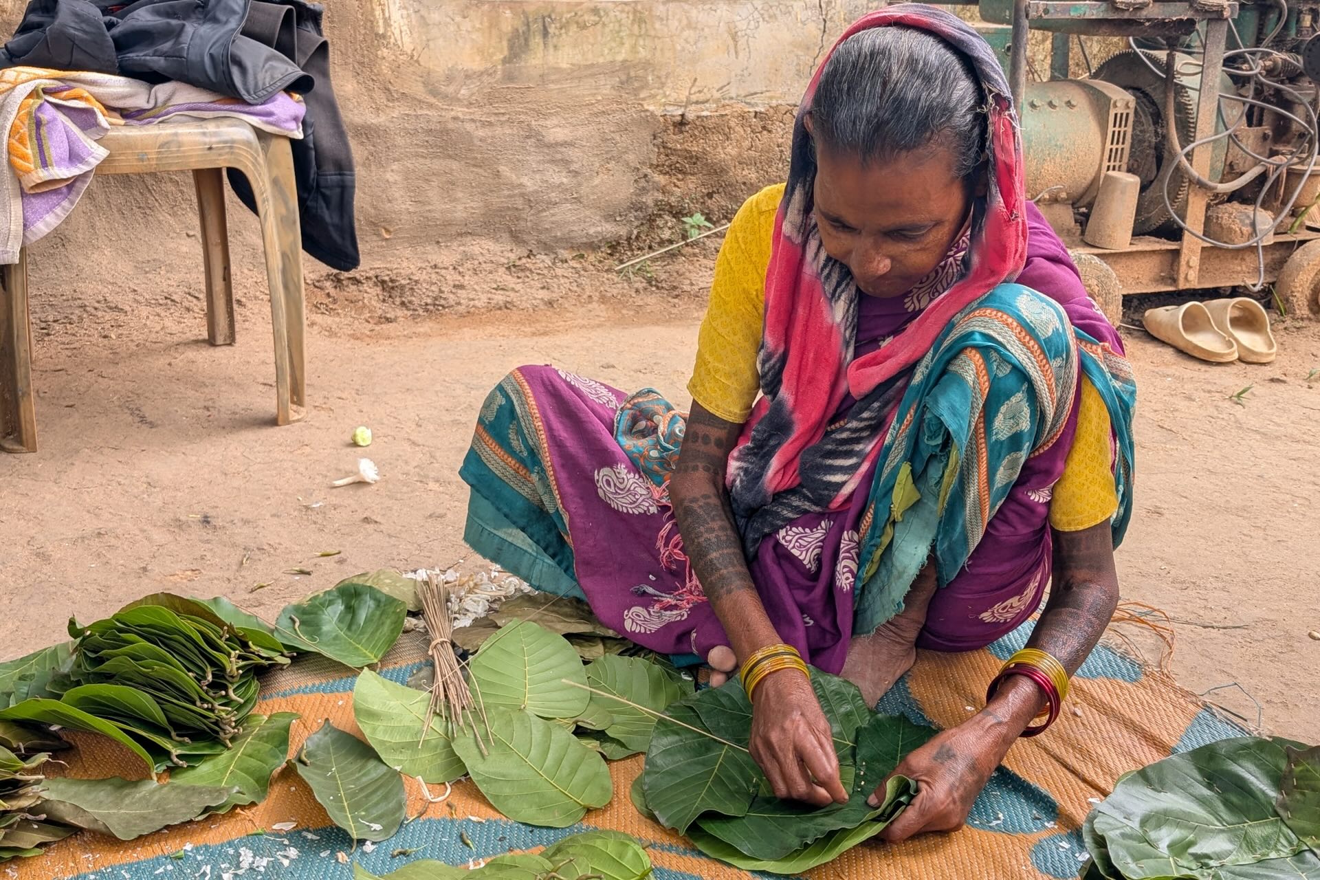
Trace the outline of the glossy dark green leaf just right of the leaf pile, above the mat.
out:
<instances>
[{"instance_id":1,"label":"glossy dark green leaf just right of the leaf pile, above the mat","mask_svg":"<svg viewBox=\"0 0 1320 880\"><path fill-rule=\"evenodd\" d=\"M285 607L275 633L297 650L309 650L362 669L385 656L404 629L408 607L363 583L341 583Z\"/></svg>"}]
</instances>

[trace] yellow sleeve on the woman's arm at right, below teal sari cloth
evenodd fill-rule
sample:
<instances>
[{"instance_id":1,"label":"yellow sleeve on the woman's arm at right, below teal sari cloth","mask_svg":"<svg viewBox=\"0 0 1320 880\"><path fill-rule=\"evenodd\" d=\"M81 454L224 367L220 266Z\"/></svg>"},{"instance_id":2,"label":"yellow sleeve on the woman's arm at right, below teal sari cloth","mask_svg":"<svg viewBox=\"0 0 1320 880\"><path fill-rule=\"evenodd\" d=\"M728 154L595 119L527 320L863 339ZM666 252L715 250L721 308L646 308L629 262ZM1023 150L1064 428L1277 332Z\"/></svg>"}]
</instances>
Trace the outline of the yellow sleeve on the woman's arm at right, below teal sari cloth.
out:
<instances>
[{"instance_id":1,"label":"yellow sleeve on the woman's arm at right, below teal sari cloth","mask_svg":"<svg viewBox=\"0 0 1320 880\"><path fill-rule=\"evenodd\" d=\"M1077 434L1064 462L1064 475L1055 484L1049 525L1060 532L1081 532L1110 519L1117 509L1109 410L1096 387L1082 376Z\"/></svg>"}]
</instances>

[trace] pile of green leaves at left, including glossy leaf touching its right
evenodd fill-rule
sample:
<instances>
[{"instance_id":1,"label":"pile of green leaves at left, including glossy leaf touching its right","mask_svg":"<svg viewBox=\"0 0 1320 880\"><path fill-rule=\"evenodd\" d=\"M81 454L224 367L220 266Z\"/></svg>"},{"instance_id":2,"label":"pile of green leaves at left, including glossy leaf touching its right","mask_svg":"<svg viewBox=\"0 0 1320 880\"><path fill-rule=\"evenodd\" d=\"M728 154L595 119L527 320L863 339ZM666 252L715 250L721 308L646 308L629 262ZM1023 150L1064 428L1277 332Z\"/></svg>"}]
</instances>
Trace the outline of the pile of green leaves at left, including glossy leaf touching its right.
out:
<instances>
[{"instance_id":1,"label":"pile of green leaves at left, including glossy leaf touching its right","mask_svg":"<svg viewBox=\"0 0 1320 880\"><path fill-rule=\"evenodd\" d=\"M150 595L0 664L0 745L57 748L45 731L61 727L108 736L153 770L189 767L243 735L260 672L300 652L379 662L405 615L405 602L354 582L288 606L275 625L222 598Z\"/></svg>"}]
</instances>

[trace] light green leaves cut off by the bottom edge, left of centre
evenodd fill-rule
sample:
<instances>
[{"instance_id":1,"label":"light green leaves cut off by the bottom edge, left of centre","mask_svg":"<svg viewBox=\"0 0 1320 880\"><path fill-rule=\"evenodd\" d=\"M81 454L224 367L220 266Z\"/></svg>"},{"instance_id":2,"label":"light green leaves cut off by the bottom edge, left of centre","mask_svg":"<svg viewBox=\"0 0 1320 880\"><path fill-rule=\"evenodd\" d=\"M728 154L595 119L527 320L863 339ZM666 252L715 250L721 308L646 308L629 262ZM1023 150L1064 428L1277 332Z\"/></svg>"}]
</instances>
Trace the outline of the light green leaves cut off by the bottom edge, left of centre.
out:
<instances>
[{"instance_id":1,"label":"light green leaves cut off by the bottom edge, left of centre","mask_svg":"<svg viewBox=\"0 0 1320 880\"><path fill-rule=\"evenodd\" d=\"M499 855L471 871L433 859L412 862L379 877L359 865L352 868L354 880L649 880L651 876L647 851L618 831L574 834L537 855Z\"/></svg>"}]
</instances>

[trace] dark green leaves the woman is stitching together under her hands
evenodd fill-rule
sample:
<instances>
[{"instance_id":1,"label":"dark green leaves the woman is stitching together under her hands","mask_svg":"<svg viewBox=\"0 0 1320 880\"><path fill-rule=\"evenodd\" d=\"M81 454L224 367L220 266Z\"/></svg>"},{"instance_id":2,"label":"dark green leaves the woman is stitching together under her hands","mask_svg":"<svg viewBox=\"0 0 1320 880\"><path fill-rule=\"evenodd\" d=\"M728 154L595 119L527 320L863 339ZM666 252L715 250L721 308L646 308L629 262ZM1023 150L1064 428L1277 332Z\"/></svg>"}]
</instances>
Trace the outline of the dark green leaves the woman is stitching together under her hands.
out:
<instances>
[{"instance_id":1,"label":"dark green leaves the woman is stitching together under her hands","mask_svg":"<svg viewBox=\"0 0 1320 880\"><path fill-rule=\"evenodd\" d=\"M875 836L911 803L916 782L895 776L879 807L867 798L936 731L875 715L842 678L813 670L812 687L851 794L846 803L813 807L774 796L747 751L751 702L737 681L669 706L656 723L634 803L706 855L746 871L801 873Z\"/></svg>"}]
</instances>

